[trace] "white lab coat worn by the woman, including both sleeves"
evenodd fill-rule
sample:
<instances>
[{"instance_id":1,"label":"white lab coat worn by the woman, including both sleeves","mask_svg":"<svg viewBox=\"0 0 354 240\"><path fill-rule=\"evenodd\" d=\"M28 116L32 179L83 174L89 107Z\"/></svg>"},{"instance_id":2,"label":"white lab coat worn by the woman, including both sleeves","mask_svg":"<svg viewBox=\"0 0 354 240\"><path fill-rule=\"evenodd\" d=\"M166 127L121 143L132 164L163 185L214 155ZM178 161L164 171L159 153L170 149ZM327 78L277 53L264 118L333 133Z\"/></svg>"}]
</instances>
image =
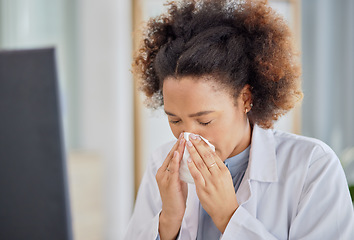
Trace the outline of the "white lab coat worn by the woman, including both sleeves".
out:
<instances>
[{"instance_id":1,"label":"white lab coat worn by the woman, including both sleeves","mask_svg":"<svg viewBox=\"0 0 354 240\"><path fill-rule=\"evenodd\" d=\"M126 240L158 236L162 207L156 172L174 142L152 154ZM354 213L335 153L323 142L254 126L249 165L236 193L238 209L221 239L354 239ZM178 239L196 239L199 199L188 184Z\"/></svg>"}]
</instances>

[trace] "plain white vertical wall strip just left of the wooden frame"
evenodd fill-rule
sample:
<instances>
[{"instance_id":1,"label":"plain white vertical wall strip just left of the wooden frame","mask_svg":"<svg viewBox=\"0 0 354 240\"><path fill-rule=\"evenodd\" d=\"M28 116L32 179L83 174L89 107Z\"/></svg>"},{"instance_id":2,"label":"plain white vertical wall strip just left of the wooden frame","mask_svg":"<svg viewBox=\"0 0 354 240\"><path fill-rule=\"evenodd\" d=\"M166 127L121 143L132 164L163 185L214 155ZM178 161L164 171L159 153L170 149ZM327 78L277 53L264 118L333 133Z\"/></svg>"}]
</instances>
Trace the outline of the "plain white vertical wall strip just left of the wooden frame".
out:
<instances>
[{"instance_id":1,"label":"plain white vertical wall strip just left of the wooden frame","mask_svg":"<svg viewBox=\"0 0 354 240\"><path fill-rule=\"evenodd\" d=\"M105 239L122 239L134 202L131 1L77 4L81 148L104 160Z\"/></svg>"}]
</instances>

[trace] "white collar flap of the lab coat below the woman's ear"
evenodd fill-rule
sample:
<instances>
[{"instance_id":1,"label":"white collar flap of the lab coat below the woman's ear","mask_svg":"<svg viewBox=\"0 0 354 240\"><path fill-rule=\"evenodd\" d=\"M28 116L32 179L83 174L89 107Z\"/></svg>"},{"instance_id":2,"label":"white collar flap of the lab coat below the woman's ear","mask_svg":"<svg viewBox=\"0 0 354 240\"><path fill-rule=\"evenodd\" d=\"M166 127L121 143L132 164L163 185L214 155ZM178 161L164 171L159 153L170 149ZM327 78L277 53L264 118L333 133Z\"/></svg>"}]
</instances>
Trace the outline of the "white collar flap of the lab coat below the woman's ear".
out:
<instances>
[{"instance_id":1,"label":"white collar flap of the lab coat below the woman's ear","mask_svg":"<svg viewBox=\"0 0 354 240\"><path fill-rule=\"evenodd\" d=\"M278 181L275 139L272 129L263 129L254 125L249 165L245 177L260 182Z\"/></svg>"}]
</instances>

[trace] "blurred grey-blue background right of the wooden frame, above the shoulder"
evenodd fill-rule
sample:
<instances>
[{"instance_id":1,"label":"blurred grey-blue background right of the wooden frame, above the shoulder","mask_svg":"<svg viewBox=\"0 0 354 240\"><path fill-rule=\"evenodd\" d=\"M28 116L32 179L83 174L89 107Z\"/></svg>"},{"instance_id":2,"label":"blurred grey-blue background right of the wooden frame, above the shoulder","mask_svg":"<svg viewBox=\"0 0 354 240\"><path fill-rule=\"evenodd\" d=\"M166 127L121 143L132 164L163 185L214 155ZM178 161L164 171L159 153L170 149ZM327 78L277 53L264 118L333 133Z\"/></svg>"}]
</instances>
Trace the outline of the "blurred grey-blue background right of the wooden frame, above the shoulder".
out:
<instances>
[{"instance_id":1,"label":"blurred grey-blue background right of the wooden frame, above the shoulder","mask_svg":"<svg viewBox=\"0 0 354 240\"><path fill-rule=\"evenodd\" d=\"M354 1L302 4L302 134L330 145L354 185Z\"/></svg>"}]
</instances>

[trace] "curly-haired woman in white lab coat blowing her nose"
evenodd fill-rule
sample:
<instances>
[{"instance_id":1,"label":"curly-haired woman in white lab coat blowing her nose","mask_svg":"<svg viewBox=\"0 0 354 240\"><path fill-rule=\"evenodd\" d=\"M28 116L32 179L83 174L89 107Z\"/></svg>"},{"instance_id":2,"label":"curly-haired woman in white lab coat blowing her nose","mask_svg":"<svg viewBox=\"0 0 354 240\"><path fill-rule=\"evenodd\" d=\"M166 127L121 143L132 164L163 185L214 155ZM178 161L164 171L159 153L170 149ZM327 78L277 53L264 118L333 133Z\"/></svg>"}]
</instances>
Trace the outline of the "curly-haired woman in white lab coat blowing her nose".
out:
<instances>
[{"instance_id":1,"label":"curly-haired woman in white lab coat blowing her nose","mask_svg":"<svg viewBox=\"0 0 354 240\"><path fill-rule=\"evenodd\" d=\"M126 239L354 239L334 152L272 129L302 98L284 21L262 1L169 6L135 70L178 140L152 155ZM179 178L185 147L194 184Z\"/></svg>"}]
</instances>

